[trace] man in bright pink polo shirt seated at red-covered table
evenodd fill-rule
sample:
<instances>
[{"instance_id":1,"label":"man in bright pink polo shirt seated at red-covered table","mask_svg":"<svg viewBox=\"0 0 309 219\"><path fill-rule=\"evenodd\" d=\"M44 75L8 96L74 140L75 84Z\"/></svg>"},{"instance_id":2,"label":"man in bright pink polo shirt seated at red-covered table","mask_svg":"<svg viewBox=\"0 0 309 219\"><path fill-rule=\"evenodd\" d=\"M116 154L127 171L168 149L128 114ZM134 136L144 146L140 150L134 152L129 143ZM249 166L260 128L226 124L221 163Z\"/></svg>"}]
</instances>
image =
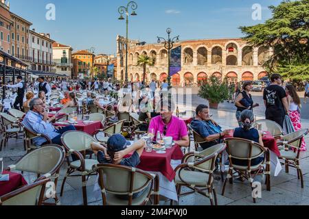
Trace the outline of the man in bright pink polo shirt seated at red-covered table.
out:
<instances>
[{"instance_id":1,"label":"man in bright pink polo shirt seated at red-covered table","mask_svg":"<svg viewBox=\"0 0 309 219\"><path fill-rule=\"evenodd\" d=\"M170 109L170 110L169 110ZM190 146L190 139L187 133L187 126L183 120L180 120L176 116L172 116L175 109L173 102L161 100L159 105L160 116L152 118L148 133L157 132L163 133L163 136L172 137L174 143L179 146L188 147Z\"/></svg>"}]
</instances>

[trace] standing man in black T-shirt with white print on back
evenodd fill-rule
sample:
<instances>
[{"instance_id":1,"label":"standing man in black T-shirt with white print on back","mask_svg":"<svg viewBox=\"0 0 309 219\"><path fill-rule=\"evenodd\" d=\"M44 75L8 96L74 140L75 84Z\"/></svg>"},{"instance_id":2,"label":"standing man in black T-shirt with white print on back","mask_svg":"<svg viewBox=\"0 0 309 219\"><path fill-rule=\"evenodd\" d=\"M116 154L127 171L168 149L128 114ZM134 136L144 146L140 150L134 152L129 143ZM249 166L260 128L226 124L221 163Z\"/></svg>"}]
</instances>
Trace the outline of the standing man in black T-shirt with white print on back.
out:
<instances>
[{"instance_id":1,"label":"standing man in black T-shirt with white print on back","mask_svg":"<svg viewBox=\"0 0 309 219\"><path fill-rule=\"evenodd\" d=\"M264 89L263 99L266 119L278 123L283 128L284 117L289 115L286 91L282 88L282 76L271 75L271 85Z\"/></svg>"}]
</instances>

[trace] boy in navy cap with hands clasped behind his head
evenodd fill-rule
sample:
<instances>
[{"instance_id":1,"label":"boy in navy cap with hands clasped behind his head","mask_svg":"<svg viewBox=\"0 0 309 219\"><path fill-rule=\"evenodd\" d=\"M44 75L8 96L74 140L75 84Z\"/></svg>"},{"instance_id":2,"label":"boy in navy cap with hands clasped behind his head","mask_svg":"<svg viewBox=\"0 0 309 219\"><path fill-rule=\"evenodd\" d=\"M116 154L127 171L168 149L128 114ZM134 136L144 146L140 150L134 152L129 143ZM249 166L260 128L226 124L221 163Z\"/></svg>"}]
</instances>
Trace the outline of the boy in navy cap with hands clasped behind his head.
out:
<instances>
[{"instance_id":1,"label":"boy in navy cap with hands clasped behind his head","mask_svg":"<svg viewBox=\"0 0 309 219\"><path fill-rule=\"evenodd\" d=\"M130 142L126 141L124 136L115 134L108 139L106 147L102 146L102 144L93 142L91 143L91 149L93 150L93 153L97 155L100 164L116 164L136 167L140 163L139 157L141 157L141 154L144 151L146 142L144 140L139 140L127 148L129 145ZM123 159L124 156L133 151L134 153L131 157Z\"/></svg>"}]
</instances>

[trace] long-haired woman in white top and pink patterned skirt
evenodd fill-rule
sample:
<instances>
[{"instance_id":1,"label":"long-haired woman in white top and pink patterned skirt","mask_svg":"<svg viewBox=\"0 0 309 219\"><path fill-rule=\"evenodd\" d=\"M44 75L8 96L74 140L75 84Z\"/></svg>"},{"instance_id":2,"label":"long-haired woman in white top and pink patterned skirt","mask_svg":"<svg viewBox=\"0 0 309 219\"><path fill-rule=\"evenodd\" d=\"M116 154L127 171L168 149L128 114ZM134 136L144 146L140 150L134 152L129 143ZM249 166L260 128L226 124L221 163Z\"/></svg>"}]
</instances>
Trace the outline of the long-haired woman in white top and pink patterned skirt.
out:
<instances>
[{"instance_id":1,"label":"long-haired woman in white top and pink patterned skirt","mask_svg":"<svg viewBox=\"0 0 309 219\"><path fill-rule=\"evenodd\" d=\"M301 130L301 114L299 109L301 109L301 100L295 90L295 87L291 84L286 85L286 94L288 96L288 109L290 120L293 123L295 131ZM306 151L306 142L303 138L301 143L301 151Z\"/></svg>"}]
</instances>

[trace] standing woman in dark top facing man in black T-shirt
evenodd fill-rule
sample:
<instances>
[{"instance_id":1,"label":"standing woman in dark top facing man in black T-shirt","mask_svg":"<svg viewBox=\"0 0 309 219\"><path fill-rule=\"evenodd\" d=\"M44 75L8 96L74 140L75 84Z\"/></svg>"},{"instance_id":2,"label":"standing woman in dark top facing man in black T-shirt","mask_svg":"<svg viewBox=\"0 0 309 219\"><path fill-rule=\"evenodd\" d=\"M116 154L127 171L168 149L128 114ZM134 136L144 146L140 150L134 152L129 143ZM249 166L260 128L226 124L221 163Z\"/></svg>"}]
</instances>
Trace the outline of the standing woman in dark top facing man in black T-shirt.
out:
<instances>
[{"instance_id":1,"label":"standing woman in dark top facing man in black T-shirt","mask_svg":"<svg viewBox=\"0 0 309 219\"><path fill-rule=\"evenodd\" d=\"M252 88L252 82L251 81L244 81L242 85L242 92L238 94L235 100L235 105L237 107L236 111L236 119L238 121L239 127L242 127L242 122L240 121L240 115L244 110L252 110L255 107L259 107L260 105L258 103L253 104L253 99L250 94Z\"/></svg>"}]
</instances>

